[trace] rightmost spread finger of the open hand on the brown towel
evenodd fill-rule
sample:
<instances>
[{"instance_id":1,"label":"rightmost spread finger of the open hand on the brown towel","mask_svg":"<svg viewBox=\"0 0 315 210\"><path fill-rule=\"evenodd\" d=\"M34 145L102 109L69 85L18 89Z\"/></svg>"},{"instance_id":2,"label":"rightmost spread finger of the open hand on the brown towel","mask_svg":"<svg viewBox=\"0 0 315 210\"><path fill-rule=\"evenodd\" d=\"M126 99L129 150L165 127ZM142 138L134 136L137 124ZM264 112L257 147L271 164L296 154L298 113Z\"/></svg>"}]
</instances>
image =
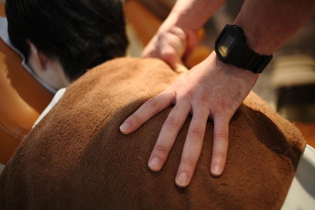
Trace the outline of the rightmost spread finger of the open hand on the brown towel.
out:
<instances>
[{"instance_id":1,"label":"rightmost spread finger of the open hand on the brown towel","mask_svg":"<svg viewBox=\"0 0 315 210\"><path fill-rule=\"evenodd\" d=\"M215 176L221 175L225 166L228 147L228 125L228 118L222 116L214 118L211 174Z\"/></svg>"}]
</instances>

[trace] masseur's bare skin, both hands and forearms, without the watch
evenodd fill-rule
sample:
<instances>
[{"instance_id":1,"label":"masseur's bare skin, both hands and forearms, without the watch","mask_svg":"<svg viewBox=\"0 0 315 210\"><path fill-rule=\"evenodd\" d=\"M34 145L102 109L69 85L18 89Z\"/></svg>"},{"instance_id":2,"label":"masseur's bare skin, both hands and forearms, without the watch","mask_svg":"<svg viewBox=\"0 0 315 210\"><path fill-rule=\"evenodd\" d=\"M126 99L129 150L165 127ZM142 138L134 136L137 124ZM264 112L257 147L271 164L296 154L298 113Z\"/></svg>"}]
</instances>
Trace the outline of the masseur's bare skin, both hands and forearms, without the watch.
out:
<instances>
[{"instance_id":1,"label":"masseur's bare skin, both hands and forearms, without the watch","mask_svg":"<svg viewBox=\"0 0 315 210\"><path fill-rule=\"evenodd\" d=\"M223 0L178 0L158 33L143 51L177 70L197 44L197 31ZM205 9L207 8L207 9ZM208 9L209 8L209 9ZM315 14L314 0L246 0L234 24L244 30L249 47L260 55L274 53ZM228 148L229 121L251 91L258 74L222 63L213 52L165 91L150 99L120 127L130 134L159 111L174 104L165 120L148 166L163 167L189 113L192 120L175 182L187 187L197 164L208 118L214 121L211 174L222 174ZM210 161L210 160L209 160Z\"/></svg>"}]
</instances>

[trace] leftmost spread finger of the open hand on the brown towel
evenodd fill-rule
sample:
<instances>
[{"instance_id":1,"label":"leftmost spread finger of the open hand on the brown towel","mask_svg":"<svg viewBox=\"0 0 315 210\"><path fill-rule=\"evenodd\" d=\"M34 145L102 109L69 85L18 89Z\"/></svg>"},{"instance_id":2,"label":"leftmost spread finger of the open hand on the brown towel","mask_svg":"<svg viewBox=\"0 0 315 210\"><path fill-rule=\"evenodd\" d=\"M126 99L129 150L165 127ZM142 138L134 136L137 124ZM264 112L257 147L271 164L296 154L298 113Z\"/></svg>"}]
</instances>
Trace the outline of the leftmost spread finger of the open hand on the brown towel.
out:
<instances>
[{"instance_id":1,"label":"leftmost spread finger of the open hand on the brown towel","mask_svg":"<svg viewBox=\"0 0 315 210\"><path fill-rule=\"evenodd\" d=\"M175 98L175 92L172 88L167 88L156 97L149 99L138 110L130 115L120 126L123 134L130 134L137 130L143 123L156 115L161 110L172 104Z\"/></svg>"}]
</instances>

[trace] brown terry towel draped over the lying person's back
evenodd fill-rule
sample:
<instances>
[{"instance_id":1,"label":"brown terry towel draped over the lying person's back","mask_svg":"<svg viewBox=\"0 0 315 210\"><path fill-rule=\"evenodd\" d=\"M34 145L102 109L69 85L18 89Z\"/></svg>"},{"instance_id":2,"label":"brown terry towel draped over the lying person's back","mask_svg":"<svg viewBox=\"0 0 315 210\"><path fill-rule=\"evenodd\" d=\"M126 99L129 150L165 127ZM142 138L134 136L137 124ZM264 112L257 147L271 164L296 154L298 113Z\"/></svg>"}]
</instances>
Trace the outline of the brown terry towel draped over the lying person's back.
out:
<instances>
[{"instance_id":1,"label":"brown terry towel draped over the lying person's back","mask_svg":"<svg viewBox=\"0 0 315 210\"><path fill-rule=\"evenodd\" d=\"M190 117L163 169L147 161L171 110L130 135L121 123L178 74L155 59L109 61L74 82L0 177L4 209L280 209L305 148L297 128L251 93L230 122L226 168L210 175L213 122L189 187L175 186Z\"/></svg>"}]
</instances>

